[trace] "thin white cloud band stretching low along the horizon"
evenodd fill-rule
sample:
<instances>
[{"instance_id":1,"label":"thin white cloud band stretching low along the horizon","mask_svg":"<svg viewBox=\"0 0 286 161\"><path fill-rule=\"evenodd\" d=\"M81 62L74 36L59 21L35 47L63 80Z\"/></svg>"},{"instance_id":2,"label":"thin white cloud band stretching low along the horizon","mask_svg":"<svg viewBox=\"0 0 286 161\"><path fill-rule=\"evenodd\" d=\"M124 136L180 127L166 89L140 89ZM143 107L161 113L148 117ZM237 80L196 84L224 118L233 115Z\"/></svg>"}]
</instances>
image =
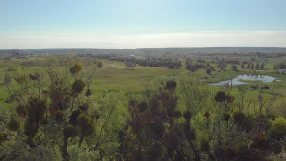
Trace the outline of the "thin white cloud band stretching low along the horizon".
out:
<instances>
[{"instance_id":1,"label":"thin white cloud band stretching low along the horizon","mask_svg":"<svg viewBox=\"0 0 286 161\"><path fill-rule=\"evenodd\" d=\"M226 31L158 34L51 32L0 35L0 48L286 47L286 32Z\"/></svg>"}]
</instances>

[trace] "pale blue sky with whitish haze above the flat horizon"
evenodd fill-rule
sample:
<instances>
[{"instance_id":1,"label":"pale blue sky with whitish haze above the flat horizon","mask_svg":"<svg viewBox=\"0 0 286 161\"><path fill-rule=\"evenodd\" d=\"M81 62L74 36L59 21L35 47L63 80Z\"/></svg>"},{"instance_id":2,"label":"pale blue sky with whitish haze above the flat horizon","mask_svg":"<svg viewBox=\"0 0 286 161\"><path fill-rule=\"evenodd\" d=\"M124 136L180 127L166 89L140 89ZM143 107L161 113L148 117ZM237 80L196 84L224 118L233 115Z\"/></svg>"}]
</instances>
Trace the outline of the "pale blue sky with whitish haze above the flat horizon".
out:
<instances>
[{"instance_id":1,"label":"pale blue sky with whitish haze above the flat horizon","mask_svg":"<svg viewBox=\"0 0 286 161\"><path fill-rule=\"evenodd\" d=\"M286 47L286 0L0 0L0 49Z\"/></svg>"}]
</instances>

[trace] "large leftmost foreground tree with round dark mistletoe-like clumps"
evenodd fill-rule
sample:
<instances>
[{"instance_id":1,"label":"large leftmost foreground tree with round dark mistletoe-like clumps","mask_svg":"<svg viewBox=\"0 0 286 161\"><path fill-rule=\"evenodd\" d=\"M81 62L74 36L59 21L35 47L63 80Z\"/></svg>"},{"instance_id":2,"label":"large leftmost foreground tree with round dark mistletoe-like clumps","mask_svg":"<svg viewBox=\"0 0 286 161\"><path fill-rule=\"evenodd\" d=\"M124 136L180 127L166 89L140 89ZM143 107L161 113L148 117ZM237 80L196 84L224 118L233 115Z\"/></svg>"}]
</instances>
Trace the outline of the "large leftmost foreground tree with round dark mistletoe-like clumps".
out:
<instances>
[{"instance_id":1,"label":"large leftmost foreground tree with round dark mistletoe-like clumps","mask_svg":"<svg viewBox=\"0 0 286 161\"><path fill-rule=\"evenodd\" d=\"M78 106L84 99L89 99L84 98L84 95L80 96L80 94L92 82L95 68L92 67L88 77L85 77L82 65L79 63L72 65L74 59L70 59L70 57L65 59L64 70L61 73L57 70L57 59L48 58L45 61L46 73L44 74L48 76L47 81L43 81L42 75L37 72L27 74L25 67L22 68L23 71L14 71L12 77L7 75L3 79L2 85L18 103L17 115L11 116L7 128L13 132L23 129L19 134L14 135L30 146L32 150L37 146L54 146L60 149L59 142L64 142L62 155L65 158L68 138L76 137L79 133L80 146L83 138L93 132L91 122L88 121L87 124L84 124L86 115L80 116L79 122L75 117L75 122L78 125L71 125L65 119L68 118L70 112L73 112L74 106ZM21 93L16 93L11 89L11 79L16 81ZM18 120L21 120L23 124L20 124ZM49 131L51 127L59 128L51 132ZM51 135L58 139L50 139ZM53 144L53 142L57 143Z\"/></svg>"}]
</instances>

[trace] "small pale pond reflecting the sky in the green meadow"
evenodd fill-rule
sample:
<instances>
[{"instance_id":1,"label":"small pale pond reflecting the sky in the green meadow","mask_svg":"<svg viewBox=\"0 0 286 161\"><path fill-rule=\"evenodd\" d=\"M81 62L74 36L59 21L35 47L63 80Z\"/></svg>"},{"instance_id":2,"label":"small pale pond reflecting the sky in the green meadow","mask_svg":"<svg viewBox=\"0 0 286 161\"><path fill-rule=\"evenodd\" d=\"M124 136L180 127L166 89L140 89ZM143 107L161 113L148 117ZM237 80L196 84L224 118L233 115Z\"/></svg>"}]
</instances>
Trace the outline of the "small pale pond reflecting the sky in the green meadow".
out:
<instances>
[{"instance_id":1,"label":"small pale pond reflecting the sky in the green meadow","mask_svg":"<svg viewBox=\"0 0 286 161\"><path fill-rule=\"evenodd\" d=\"M241 84L248 84L252 82L272 82L272 81L279 81L275 77L265 76L265 75L251 75L251 74L239 74L236 78L232 79L232 85L241 85ZM211 85L223 85L223 84L230 84L230 81L221 81L219 83L209 83Z\"/></svg>"}]
</instances>

